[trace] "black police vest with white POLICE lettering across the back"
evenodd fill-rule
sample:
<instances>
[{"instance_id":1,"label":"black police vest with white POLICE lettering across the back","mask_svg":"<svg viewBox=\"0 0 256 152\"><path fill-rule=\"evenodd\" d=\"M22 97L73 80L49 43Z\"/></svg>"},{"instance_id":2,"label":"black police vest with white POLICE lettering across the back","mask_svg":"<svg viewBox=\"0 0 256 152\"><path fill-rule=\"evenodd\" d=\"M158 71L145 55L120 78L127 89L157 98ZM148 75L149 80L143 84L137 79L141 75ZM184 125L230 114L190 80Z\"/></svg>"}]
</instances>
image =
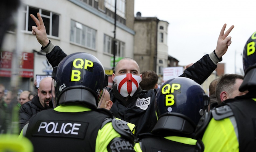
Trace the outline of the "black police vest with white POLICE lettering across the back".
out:
<instances>
[{"instance_id":1,"label":"black police vest with white POLICE lettering across the back","mask_svg":"<svg viewBox=\"0 0 256 152\"><path fill-rule=\"evenodd\" d=\"M127 132L124 132L123 128L120 129L120 124L125 125L122 124L123 121L114 119L105 109L84 112L58 112L48 109L30 119L25 136L36 145L35 152L95 152L98 131L109 122L112 122L118 133L131 133L128 127ZM116 143L110 143L109 146L111 144ZM132 149L133 146L126 145L129 146Z\"/></svg>"}]
</instances>

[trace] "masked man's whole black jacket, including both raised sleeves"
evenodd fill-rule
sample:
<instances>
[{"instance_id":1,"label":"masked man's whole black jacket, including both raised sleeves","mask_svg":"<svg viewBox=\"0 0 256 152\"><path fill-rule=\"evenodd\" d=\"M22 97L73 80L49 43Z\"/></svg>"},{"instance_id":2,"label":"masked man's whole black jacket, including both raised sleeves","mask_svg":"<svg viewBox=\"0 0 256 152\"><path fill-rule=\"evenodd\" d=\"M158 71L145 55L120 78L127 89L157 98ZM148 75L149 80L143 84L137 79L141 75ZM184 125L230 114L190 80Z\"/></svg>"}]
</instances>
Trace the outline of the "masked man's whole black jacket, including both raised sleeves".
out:
<instances>
[{"instance_id":1,"label":"masked man's whole black jacket, including both raised sleeves","mask_svg":"<svg viewBox=\"0 0 256 152\"><path fill-rule=\"evenodd\" d=\"M58 66L58 63L65 56L66 54L58 46L55 46L50 53L46 54L52 67ZM202 84L216 67L217 65L212 62L209 55L204 55L198 62L187 68L181 76ZM112 90L110 91L110 97L113 106L110 111L113 112L114 116L137 125L136 135L151 131L156 124L156 110L154 108L156 90L152 89L147 92L139 87L128 101L123 99L120 93L117 93L116 87Z\"/></svg>"}]
</instances>

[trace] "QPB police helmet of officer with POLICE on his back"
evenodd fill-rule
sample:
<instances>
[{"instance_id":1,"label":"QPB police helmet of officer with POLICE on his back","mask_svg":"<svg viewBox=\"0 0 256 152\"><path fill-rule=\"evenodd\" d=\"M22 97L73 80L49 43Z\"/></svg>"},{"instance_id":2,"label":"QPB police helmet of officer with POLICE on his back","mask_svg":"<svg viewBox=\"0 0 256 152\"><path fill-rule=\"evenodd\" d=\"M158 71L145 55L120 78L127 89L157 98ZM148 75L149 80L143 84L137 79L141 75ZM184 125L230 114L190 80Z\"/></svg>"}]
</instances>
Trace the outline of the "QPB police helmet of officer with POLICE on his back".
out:
<instances>
[{"instance_id":1,"label":"QPB police helmet of officer with POLICE on his back","mask_svg":"<svg viewBox=\"0 0 256 152\"><path fill-rule=\"evenodd\" d=\"M77 52L66 56L53 68L53 105L84 103L97 108L107 76L100 61L91 54Z\"/></svg>"}]
</instances>

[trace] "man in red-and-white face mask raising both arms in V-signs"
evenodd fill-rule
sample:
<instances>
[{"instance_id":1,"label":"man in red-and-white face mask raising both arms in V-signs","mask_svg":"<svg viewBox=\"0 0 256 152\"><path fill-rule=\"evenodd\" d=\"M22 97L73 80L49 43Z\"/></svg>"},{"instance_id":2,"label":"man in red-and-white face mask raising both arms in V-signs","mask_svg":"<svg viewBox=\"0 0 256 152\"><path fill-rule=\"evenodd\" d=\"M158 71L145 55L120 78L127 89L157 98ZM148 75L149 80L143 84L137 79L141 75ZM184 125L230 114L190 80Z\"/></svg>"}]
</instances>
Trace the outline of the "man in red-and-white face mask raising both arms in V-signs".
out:
<instances>
[{"instance_id":1,"label":"man in red-and-white face mask raising both arms in V-signs","mask_svg":"<svg viewBox=\"0 0 256 152\"><path fill-rule=\"evenodd\" d=\"M58 46L54 46L47 38L44 22L39 13L38 19L31 14L36 26L32 26L32 34L40 44L42 50L46 52L46 57L52 67L55 67L60 61L66 57L66 54ZM227 52L228 46L231 44L231 37L228 34L233 29L233 25L224 33L226 24L220 32L217 47L209 55L204 55L202 59L194 63L191 67L184 71L181 76L191 78L194 81L202 84L208 76L217 67L217 62L222 60L222 55ZM228 37L227 37L228 36ZM154 109L155 90L143 91L139 86L141 74L138 63L131 58L120 60L116 67L115 73L112 74L112 80L117 83L110 90L110 97L113 101L113 106L110 111L114 116L137 125L136 135L138 133L149 132L156 124L156 114ZM122 81L122 83L120 83ZM127 89L122 87L129 85Z\"/></svg>"}]
</instances>

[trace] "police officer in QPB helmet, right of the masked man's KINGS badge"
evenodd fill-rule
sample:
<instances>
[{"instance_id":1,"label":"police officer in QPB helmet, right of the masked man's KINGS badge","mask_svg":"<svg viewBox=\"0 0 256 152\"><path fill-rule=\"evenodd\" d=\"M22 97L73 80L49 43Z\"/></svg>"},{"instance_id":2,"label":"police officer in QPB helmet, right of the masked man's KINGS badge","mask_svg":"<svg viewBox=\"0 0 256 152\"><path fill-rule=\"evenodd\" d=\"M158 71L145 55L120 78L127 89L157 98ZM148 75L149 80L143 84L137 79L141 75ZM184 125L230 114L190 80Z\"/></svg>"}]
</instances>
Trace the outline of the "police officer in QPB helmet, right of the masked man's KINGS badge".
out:
<instances>
[{"instance_id":1,"label":"police officer in QPB helmet, right of the masked man's KINGS badge","mask_svg":"<svg viewBox=\"0 0 256 152\"><path fill-rule=\"evenodd\" d=\"M203 88L189 78L165 82L156 94L157 123L151 133L139 135L142 151L203 152L194 130L208 103Z\"/></svg>"}]
</instances>

